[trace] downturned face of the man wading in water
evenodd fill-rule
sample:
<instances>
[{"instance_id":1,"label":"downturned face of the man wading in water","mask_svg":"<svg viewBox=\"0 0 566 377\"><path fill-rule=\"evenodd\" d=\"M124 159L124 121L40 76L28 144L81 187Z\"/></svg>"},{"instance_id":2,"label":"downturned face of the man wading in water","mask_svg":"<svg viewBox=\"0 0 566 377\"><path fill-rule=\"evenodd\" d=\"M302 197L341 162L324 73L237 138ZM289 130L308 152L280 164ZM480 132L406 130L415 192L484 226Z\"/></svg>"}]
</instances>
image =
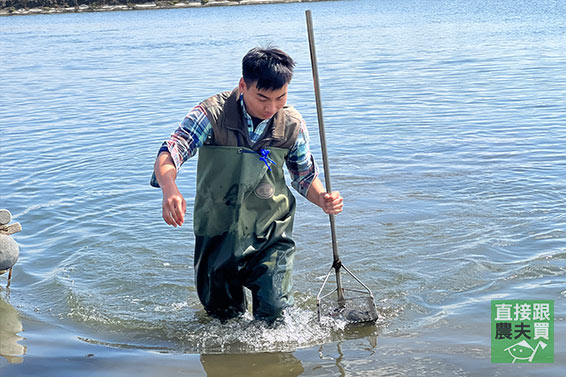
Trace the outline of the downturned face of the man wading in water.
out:
<instances>
[{"instance_id":1,"label":"downturned face of the man wading in water","mask_svg":"<svg viewBox=\"0 0 566 377\"><path fill-rule=\"evenodd\" d=\"M258 90L255 82L247 86L241 78L239 88L244 94L248 114L259 119L269 119L287 103L288 86L289 84L285 84L276 90Z\"/></svg>"}]
</instances>

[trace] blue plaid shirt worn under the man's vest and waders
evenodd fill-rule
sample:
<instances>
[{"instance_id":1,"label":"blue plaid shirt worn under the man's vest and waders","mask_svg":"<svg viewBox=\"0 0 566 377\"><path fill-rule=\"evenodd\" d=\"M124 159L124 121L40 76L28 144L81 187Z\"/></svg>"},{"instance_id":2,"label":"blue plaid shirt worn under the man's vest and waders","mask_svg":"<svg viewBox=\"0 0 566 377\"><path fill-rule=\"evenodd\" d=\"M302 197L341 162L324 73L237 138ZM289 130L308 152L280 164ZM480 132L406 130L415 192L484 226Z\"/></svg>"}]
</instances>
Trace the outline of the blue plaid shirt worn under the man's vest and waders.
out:
<instances>
[{"instance_id":1,"label":"blue plaid shirt worn under the man's vest and waders","mask_svg":"<svg viewBox=\"0 0 566 377\"><path fill-rule=\"evenodd\" d=\"M250 139L256 143L267 127L269 119L261 121L254 128L252 117L246 111L243 96L240 96L240 105L244 114L244 124L248 125ZM212 132L206 111L198 105L185 116L177 130L163 143L159 153L168 151L173 158L175 168L179 171L181 165L193 157L197 149L212 137ZM297 141L289 150L286 165L291 176L291 186L306 197L313 180L318 176L318 167L310 153L307 125L302 118Z\"/></svg>"}]
</instances>

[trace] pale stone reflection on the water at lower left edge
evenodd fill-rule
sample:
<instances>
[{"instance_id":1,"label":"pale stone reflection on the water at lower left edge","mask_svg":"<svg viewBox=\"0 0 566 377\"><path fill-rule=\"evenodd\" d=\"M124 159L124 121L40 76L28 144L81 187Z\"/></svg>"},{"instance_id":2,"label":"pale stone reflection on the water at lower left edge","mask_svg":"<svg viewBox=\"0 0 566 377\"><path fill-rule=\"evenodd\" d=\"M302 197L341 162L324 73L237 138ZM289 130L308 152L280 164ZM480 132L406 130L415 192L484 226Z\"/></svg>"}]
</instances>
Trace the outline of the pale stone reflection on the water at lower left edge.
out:
<instances>
[{"instance_id":1,"label":"pale stone reflection on the water at lower left edge","mask_svg":"<svg viewBox=\"0 0 566 377\"><path fill-rule=\"evenodd\" d=\"M26 347L18 343L23 339L18 333L23 330L18 311L0 297L0 356L11 364L24 361L22 355L26 353Z\"/></svg>"}]
</instances>

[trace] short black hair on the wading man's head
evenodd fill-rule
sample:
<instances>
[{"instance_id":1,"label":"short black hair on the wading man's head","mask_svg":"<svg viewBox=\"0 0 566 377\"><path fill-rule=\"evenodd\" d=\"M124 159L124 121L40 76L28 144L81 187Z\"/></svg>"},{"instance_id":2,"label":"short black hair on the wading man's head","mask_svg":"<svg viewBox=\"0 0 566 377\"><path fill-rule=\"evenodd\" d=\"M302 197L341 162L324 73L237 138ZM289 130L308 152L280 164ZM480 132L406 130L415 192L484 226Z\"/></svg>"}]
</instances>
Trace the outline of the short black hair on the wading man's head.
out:
<instances>
[{"instance_id":1,"label":"short black hair on the wading man's head","mask_svg":"<svg viewBox=\"0 0 566 377\"><path fill-rule=\"evenodd\" d=\"M293 59L278 48L256 47L242 59L242 76L247 86L277 90L291 82L294 67Z\"/></svg>"}]
</instances>

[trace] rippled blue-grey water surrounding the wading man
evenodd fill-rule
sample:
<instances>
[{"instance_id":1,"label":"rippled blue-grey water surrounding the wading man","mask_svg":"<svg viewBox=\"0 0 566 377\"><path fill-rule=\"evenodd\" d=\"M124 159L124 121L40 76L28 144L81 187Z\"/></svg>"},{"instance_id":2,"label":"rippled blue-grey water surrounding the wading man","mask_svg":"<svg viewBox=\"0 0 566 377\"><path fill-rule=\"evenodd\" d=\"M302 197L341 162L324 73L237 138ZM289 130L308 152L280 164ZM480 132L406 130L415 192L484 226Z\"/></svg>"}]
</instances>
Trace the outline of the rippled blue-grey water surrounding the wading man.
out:
<instances>
[{"instance_id":1,"label":"rippled blue-grey water surrounding the wading man","mask_svg":"<svg viewBox=\"0 0 566 377\"><path fill-rule=\"evenodd\" d=\"M346 200L340 252L380 320L318 325L328 219L299 198L295 308L276 328L221 324L194 289L192 212L182 228L161 220L152 164L270 42L297 60L289 102L321 160L305 9ZM565 16L543 0L354 0L1 18L0 207L24 230L0 288L0 370L561 375ZM193 161L178 179L189 208L194 176ZM555 301L554 364L490 363L494 298Z\"/></svg>"}]
</instances>

